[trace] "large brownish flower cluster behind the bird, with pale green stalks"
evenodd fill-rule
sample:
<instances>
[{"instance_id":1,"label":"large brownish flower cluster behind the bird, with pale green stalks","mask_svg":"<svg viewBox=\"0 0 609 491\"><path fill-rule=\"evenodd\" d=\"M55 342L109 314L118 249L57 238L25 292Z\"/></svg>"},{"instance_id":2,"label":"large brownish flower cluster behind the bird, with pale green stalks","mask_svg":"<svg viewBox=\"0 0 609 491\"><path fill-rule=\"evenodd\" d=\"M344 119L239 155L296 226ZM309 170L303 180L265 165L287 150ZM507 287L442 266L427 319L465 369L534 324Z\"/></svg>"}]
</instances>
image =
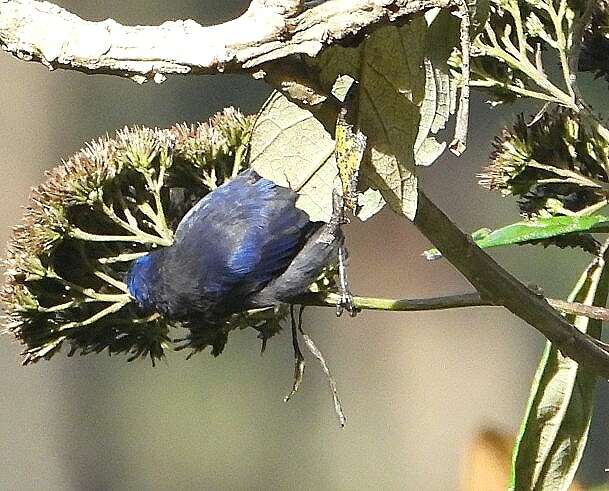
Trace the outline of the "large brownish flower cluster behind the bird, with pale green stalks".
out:
<instances>
[{"instance_id":1,"label":"large brownish flower cluster behind the bird, with pale green stalks","mask_svg":"<svg viewBox=\"0 0 609 491\"><path fill-rule=\"evenodd\" d=\"M154 362L174 328L188 333L179 347L217 355L233 329L254 327L263 342L279 330L285 307L217 326L144 315L123 281L131 261L170 245L188 209L247 165L252 122L229 108L194 126L125 128L48 173L14 229L1 292L24 364L63 345L69 355L107 350Z\"/></svg>"}]
</instances>

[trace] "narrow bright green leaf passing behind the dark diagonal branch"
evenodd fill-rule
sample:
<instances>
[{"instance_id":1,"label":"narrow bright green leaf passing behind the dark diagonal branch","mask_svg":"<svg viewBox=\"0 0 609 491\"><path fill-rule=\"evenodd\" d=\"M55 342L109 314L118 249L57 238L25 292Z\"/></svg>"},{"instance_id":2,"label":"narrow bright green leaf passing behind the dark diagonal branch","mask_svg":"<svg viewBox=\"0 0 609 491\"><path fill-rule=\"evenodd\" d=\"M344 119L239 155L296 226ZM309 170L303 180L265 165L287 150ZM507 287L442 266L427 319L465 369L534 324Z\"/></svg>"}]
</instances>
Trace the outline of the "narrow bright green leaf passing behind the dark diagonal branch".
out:
<instances>
[{"instance_id":1,"label":"narrow bright green leaf passing behind the dark diagonal branch","mask_svg":"<svg viewBox=\"0 0 609 491\"><path fill-rule=\"evenodd\" d=\"M478 247L488 249L525 244L575 232L609 232L609 217L604 215L557 216L525 220L512 223L493 232L488 228L477 230L472 234L472 238ZM424 255L428 260L442 257L437 249L429 249L424 252Z\"/></svg>"}]
</instances>

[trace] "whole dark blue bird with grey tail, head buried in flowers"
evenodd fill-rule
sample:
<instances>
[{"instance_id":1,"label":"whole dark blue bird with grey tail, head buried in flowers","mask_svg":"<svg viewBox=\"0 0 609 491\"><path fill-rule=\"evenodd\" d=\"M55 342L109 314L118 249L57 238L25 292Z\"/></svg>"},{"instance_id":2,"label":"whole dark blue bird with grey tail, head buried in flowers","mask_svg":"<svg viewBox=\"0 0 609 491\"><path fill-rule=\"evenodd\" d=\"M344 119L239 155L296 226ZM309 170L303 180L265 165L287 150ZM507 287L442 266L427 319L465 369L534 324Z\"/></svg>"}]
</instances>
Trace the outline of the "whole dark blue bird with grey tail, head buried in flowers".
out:
<instances>
[{"instance_id":1,"label":"whole dark blue bird with grey tail, head buried in flowers","mask_svg":"<svg viewBox=\"0 0 609 491\"><path fill-rule=\"evenodd\" d=\"M241 172L184 215L171 246L133 261L129 294L139 307L169 319L212 324L290 303L321 270L344 259L341 214L328 223L312 221L296 207L297 198L253 169ZM344 286L337 312L345 306L352 313Z\"/></svg>"}]
</instances>

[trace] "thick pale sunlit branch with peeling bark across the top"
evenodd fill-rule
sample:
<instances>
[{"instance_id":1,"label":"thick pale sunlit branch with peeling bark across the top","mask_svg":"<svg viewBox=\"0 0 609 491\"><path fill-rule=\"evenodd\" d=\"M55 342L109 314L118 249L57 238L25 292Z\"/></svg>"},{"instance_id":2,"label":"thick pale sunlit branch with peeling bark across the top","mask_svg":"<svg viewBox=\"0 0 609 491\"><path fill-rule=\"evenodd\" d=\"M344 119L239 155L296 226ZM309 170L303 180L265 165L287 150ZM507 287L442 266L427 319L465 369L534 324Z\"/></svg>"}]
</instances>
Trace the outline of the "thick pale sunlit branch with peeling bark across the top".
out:
<instances>
[{"instance_id":1,"label":"thick pale sunlit branch with peeling bark across the top","mask_svg":"<svg viewBox=\"0 0 609 491\"><path fill-rule=\"evenodd\" d=\"M232 21L203 27L193 20L160 26L89 22L49 2L0 0L0 46L49 69L163 82L170 74L254 72L291 55L317 55L336 42L357 42L375 27L459 0L254 0Z\"/></svg>"}]
</instances>

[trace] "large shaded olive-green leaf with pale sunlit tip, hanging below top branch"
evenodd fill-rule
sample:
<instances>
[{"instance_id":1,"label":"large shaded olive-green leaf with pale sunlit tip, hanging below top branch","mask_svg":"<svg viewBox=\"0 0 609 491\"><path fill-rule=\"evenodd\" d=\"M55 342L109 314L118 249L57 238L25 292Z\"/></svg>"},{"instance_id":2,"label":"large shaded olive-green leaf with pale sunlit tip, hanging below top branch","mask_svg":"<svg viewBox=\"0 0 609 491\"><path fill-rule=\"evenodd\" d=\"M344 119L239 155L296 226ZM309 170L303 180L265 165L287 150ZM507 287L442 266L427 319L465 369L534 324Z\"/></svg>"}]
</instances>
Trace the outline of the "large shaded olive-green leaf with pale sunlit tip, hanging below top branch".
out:
<instances>
[{"instance_id":1,"label":"large shaded olive-green leaf with pale sunlit tip, hanging below top branch","mask_svg":"<svg viewBox=\"0 0 609 491\"><path fill-rule=\"evenodd\" d=\"M444 14L438 17L445 18ZM371 164L362 169L362 173L395 211L410 218L416 212L417 180L414 168L419 128L423 123L423 136L419 137L419 148L423 148L431 127L441 126L438 121L434 123L438 107L436 91L445 89L448 92L449 89L449 84L436 83L432 68L428 70L432 74L426 75L429 51L445 49L439 43L430 50L427 41L432 36L427 22L424 16L417 16L404 26L387 26L375 31L357 48L334 46L312 60L321 70L322 83L327 86L344 74L359 82L354 101L355 119L368 138ZM432 28L436 22L432 23ZM443 27L446 29L446 26ZM452 45L456 44L457 39L452 39ZM429 60L427 63L430 66ZM423 108L426 82L428 86L435 84L436 91L428 91L427 104ZM449 98L445 94L440 99ZM423 121L422 109L425 115ZM437 118L442 118L441 113ZM437 146L424 148L434 156L438 155ZM421 161L428 163L430 160L421 157Z\"/></svg>"}]
</instances>

